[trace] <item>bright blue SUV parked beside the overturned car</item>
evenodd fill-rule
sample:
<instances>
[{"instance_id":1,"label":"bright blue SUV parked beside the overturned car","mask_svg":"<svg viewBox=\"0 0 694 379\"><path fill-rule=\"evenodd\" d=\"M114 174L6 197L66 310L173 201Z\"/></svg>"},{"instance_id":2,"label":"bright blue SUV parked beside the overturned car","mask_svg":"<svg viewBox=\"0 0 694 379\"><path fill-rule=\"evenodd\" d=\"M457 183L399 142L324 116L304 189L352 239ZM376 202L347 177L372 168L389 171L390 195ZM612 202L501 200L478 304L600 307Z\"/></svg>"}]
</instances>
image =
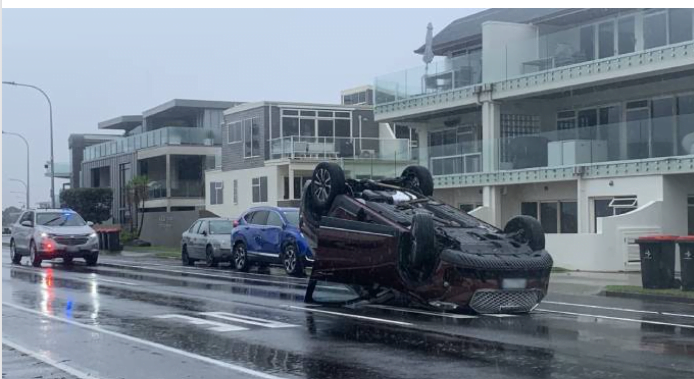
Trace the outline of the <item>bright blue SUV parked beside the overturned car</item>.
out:
<instances>
[{"instance_id":1,"label":"bright blue SUV parked beside the overturned car","mask_svg":"<svg viewBox=\"0 0 694 379\"><path fill-rule=\"evenodd\" d=\"M299 230L298 208L256 207L234 222L232 262L239 271L252 263L282 264L289 275L302 276L313 253Z\"/></svg>"}]
</instances>

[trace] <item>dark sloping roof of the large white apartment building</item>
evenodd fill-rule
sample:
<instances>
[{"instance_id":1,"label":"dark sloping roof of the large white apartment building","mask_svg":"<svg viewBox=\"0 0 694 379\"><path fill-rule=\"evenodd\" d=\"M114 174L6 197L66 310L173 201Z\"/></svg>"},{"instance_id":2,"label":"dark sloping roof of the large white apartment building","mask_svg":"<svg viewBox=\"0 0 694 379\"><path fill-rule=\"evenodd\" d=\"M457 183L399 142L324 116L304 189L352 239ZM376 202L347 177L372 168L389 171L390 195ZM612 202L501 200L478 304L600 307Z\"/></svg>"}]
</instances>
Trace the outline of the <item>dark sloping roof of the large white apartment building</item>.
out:
<instances>
[{"instance_id":1,"label":"dark sloping roof of the large white apartment building","mask_svg":"<svg viewBox=\"0 0 694 379\"><path fill-rule=\"evenodd\" d=\"M528 23L544 17L563 12L572 12L569 8L502 8L487 9L482 12L459 18L436 33L433 40L433 50L436 55L444 55L454 50L456 45L476 39L482 34L482 24L488 21ZM424 35L424 33L422 33ZM424 53L424 45L414 51Z\"/></svg>"}]
</instances>

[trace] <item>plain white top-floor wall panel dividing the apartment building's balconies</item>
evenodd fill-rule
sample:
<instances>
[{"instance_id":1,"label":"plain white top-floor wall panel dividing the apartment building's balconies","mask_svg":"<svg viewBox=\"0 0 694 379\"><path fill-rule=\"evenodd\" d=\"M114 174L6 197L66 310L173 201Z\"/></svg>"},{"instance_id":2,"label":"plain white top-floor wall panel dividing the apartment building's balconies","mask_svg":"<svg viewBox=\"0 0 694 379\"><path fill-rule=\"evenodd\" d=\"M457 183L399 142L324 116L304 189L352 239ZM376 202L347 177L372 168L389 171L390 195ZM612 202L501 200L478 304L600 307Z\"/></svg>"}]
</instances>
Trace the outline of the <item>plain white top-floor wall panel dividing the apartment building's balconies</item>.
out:
<instances>
[{"instance_id":1,"label":"plain white top-floor wall panel dividing the apartment building's balconies","mask_svg":"<svg viewBox=\"0 0 694 379\"><path fill-rule=\"evenodd\" d=\"M483 81L521 75L522 63L538 58L538 46L536 26L498 21L483 23Z\"/></svg>"}]
</instances>

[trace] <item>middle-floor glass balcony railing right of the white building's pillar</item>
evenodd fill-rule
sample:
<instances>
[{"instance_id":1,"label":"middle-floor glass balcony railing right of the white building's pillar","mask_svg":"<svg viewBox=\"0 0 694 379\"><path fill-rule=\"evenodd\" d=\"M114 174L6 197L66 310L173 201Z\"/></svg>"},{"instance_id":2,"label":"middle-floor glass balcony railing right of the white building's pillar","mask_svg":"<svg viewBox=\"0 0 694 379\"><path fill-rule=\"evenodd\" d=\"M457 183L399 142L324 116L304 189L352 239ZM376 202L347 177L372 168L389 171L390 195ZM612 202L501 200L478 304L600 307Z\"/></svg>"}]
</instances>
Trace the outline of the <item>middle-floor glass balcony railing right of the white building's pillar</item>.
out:
<instances>
[{"instance_id":1,"label":"middle-floor glass balcony railing right of the white building's pillar","mask_svg":"<svg viewBox=\"0 0 694 379\"><path fill-rule=\"evenodd\" d=\"M517 170L694 154L694 115L501 138L499 169Z\"/></svg>"}]
</instances>

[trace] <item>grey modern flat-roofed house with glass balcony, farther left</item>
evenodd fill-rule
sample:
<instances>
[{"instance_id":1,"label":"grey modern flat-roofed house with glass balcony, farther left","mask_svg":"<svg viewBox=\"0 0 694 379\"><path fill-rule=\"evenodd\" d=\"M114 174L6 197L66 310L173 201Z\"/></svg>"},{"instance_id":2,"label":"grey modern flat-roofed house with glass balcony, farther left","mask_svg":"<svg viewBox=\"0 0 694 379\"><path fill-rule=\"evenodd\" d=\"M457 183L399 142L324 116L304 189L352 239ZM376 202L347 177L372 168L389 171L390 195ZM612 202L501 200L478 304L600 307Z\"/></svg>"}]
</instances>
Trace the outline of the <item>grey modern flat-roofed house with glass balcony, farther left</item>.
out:
<instances>
[{"instance_id":1,"label":"grey modern flat-roofed house with glass balcony, farther left","mask_svg":"<svg viewBox=\"0 0 694 379\"><path fill-rule=\"evenodd\" d=\"M120 116L99 129L123 136L83 149L83 187L113 189L113 221L128 223L128 182L148 179L144 212L194 211L204 207L204 171L221 154L223 111L240 103L174 99L142 115Z\"/></svg>"}]
</instances>

